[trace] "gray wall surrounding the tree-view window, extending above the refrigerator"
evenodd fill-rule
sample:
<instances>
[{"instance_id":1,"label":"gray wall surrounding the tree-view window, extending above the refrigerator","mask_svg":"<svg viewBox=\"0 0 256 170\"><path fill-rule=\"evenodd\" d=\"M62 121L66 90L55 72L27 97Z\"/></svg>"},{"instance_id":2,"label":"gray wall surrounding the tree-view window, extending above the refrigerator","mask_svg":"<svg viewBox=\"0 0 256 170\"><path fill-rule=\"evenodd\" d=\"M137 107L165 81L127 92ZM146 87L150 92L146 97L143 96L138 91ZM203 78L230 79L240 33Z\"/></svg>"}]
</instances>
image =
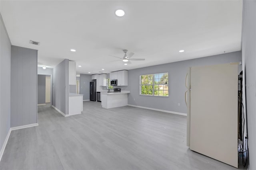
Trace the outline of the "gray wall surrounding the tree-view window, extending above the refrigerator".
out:
<instances>
[{"instance_id":1,"label":"gray wall surrounding the tree-view window, extending above the refrigerator","mask_svg":"<svg viewBox=\"0 0 256 170\"><path fill-rule=\"evenodd\" d=\"M184 92L186 91L185 76L188 67L239 61L242 61L241 51L128 70L128 87L126 89L130 90L128 104L187 113ZM169 97L141 96L140 75L162 72L169 73Z\"/></svg>"}]
</instances>

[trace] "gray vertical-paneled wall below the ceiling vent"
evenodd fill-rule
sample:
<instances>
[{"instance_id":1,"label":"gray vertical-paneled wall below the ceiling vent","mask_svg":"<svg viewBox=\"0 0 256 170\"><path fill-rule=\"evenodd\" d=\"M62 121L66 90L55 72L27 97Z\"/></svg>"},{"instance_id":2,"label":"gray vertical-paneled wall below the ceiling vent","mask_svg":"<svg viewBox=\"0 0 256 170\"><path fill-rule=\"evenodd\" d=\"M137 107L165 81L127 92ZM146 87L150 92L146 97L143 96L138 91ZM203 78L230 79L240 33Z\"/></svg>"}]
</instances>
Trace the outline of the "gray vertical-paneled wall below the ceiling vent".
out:
<instances>
[{"instance_id":1,"label":"gray vertical-paneled wall below the ceiling vent","mask_svg":"<svg viewBox=\"0 0 256 170\"><path fill-rule=\"evenodd\" d=\"M12 46L11 127L37 123L37 50Z\"/></svg>"}]
</instances>

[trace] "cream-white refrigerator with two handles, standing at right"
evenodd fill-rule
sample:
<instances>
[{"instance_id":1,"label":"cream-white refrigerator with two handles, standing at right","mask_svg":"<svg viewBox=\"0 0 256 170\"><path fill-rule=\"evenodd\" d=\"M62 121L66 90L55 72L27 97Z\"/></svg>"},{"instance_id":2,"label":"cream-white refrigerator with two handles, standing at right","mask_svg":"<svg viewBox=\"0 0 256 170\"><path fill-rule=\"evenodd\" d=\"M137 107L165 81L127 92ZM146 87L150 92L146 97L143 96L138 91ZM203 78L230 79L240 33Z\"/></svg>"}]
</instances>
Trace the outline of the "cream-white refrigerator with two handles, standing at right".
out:
<instances>
[{"instance_id":1,"label":"cream-white refrigerator with two handles, standing at right","mask_svg":"<svg viewBox=\"0 0 256 170\"><path fill-rule=\"evenodd\" d=\"M187 146L238 168L238 63L190 67Z\"/></svg>"}]
</instances>

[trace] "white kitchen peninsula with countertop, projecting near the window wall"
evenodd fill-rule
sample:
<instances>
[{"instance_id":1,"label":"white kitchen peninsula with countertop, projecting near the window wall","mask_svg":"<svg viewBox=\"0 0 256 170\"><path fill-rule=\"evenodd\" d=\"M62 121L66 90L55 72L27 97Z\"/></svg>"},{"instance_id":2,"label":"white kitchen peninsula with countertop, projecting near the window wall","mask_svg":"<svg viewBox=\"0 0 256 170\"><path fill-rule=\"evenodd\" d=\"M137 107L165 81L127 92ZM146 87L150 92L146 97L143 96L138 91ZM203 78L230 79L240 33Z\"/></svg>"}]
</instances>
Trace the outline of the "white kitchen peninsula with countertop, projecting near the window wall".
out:
<instances>
[{"instance_id":1,"label":"white kitchen peninsula with countertop, projecting near the window wall","mask_svg":"<svg viewBox=\"0 0 256 170\"><path fill-rule=\"evenodd\" d=\"M101 106L103 108L109 109L113 107L121 107L128 105L128 94L130 91L122 92L101 92Z\"/></svg>"}]
</instances>

